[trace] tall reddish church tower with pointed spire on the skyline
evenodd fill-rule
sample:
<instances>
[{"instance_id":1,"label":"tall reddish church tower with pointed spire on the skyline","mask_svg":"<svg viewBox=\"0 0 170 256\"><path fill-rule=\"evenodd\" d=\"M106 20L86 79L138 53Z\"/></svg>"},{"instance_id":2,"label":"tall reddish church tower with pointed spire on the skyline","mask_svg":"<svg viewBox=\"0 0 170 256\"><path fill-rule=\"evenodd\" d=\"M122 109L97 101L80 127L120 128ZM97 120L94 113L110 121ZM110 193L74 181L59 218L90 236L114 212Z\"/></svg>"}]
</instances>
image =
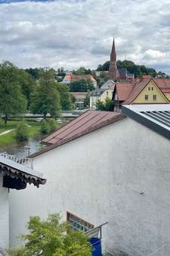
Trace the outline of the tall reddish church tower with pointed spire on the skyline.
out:
<instances>
[{"instance_id":1,"label":"tall reddish church tower with pointed spire on the skyline","mask_svg":"<svg viewBox=\"0 0 170 256\"><path fill-rule=\"evenodd\" d=\"M119 76L119 71L116 64L116 48L115 48L115 39L113 38L112 52L110 55L110 68L109 68L110 78L116 80Z\"/></svg>"}]
</instances>

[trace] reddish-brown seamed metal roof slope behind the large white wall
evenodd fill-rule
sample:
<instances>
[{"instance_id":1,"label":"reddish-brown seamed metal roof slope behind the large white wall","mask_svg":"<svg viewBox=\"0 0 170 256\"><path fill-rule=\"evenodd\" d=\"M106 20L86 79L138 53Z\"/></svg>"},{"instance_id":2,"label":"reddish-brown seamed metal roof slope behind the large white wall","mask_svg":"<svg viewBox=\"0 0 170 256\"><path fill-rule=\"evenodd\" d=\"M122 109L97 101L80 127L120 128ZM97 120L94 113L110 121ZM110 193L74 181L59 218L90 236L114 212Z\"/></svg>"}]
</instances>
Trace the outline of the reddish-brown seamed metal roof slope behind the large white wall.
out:
<instances>
[{"instance_id":1,"label":"reddish-brown seamed metal roof slope behind the large white wall","mask_svg":"<svg viewBox=\"0 0 170 256\"><path fill-rule=\"evenodd\" d=\"M70 142L73 139L77 139L80 136L91 133L94 130L107 126L108 124L114 123L122 118L124 118L124 115L116 112L86 111L70 123L67 123L65 126L52 133L47 138L43 139L42 143L48 145L48 147L31 155L30 158L41 155L46 151L57 148L66 142Z\"/></svg>"}]
</instances>

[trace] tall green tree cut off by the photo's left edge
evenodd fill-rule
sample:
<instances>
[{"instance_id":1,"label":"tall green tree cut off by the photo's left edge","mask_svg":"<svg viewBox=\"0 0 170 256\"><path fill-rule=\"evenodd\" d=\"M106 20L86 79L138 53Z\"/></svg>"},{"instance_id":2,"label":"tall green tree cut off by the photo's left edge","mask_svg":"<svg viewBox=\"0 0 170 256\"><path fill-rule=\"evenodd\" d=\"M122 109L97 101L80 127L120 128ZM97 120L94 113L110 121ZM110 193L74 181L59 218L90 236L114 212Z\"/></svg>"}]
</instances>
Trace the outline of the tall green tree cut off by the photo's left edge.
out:
<instances>
[{"instance_id":1,"label":"tall green tree cut off by the photo's left edge","mask_svg":"<svg viewBox=\"0 0 170 256\"><path fill-rule=\"evenodd\" d=\"M18 80L18 68L11 62L0 64L0 114L5 118L26 111L26 98L22 93Z\"/></svg>"}]
</instances>

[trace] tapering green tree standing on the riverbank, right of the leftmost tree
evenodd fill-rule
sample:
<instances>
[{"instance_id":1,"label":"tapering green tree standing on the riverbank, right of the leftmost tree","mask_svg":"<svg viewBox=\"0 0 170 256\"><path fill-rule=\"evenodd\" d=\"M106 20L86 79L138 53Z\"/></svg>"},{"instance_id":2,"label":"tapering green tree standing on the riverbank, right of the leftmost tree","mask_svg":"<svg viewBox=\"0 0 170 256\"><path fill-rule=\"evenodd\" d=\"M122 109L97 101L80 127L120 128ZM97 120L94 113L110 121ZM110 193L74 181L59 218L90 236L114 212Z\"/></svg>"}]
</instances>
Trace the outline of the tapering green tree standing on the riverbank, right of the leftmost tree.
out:
<instances>
[{"instance_id":1,"label":"tapering green tree standing on the riverbank, right of the leftmost tree","mask_svg":"<svg viewBox=\"0 0 170 256\"><path fill-rule=\"evenodd\" d=\"M30 109L33 114L57 117L60 113L60 94L53 70L43 70L36 92L32 94Z\"/></svg>"}]
</instances>

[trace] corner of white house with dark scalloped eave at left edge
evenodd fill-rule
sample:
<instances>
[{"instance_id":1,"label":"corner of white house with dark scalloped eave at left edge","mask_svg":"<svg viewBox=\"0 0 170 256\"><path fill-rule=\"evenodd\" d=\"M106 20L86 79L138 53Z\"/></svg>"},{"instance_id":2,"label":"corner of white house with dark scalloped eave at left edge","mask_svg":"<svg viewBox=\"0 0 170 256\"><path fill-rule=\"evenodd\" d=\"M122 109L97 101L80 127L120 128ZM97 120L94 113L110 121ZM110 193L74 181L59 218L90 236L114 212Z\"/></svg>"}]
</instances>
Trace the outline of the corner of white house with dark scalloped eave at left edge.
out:
<instances>
[{"instance_id":1,"label":"corner of white house with dark scalloped eave at left edge","mask_svg":"<svg viewBox=\"0 0 170 256\"><path fill-rule=\"evenodd\" d=\"M29 166L29 162L32 161L28 158L16 158L4 153L0 154L0 254L9 248L10 193L12 190L23 192L27 183L32 183L37 187L40 184L45 184L42 173L33 170ZM20 214L18 218L20 219Z\"/></svg>"}]
</instances>

